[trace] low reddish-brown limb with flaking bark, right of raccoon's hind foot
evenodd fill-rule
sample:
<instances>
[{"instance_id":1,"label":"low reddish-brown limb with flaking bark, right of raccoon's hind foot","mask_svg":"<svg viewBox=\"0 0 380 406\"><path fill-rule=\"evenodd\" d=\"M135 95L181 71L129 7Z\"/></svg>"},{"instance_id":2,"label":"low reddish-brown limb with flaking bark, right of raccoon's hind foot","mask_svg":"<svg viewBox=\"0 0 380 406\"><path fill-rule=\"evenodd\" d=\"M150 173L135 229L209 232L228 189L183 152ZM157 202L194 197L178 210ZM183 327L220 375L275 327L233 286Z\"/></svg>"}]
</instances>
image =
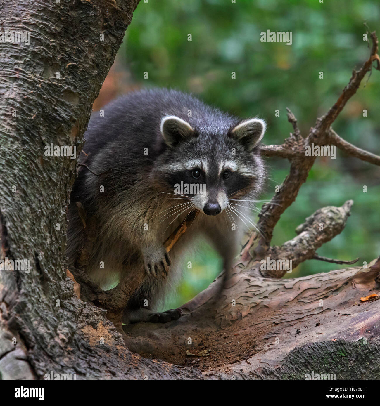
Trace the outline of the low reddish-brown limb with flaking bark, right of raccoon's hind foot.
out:
<instances>
[{"instance_id":1,"label":"low reddish-brown limb with flaking bark, right of raccoon's hind foot","mask_svg":"<svg viewBox=\"0 0 380 406\"><path fill-rule=\"evenodd\" d=\"M379 292L379 272L377 259L367 269L266 279L252 276L241 260L221 300L195 298L182 307L187 315L169 325L128 326L126 343L176 364L198 359L206 377L305 379L315 371L376 379L380 361L371 356L380 352L380 301L360 297ZM210 352L189 359L187 350Z\"/></svg>"}]
</instances>

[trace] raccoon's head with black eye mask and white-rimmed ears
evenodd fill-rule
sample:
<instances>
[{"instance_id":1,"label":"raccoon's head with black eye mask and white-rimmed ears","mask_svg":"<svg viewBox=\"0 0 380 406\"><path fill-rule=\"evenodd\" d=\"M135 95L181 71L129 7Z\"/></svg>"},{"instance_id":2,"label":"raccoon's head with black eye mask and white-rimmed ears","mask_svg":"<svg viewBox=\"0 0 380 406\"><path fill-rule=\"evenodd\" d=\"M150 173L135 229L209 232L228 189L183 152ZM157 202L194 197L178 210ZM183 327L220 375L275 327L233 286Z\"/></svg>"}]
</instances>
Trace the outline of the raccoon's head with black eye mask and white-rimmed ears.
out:
<instances>
[{"instance_id":1,"label":"raccoon's head with black eye mask and white-rimmed ears","mask_svg":"<svg viewBox=\"0 0 380 406\"><path fill-rule=\"evenodd\" d=\"M190 124L176 116L161 120L166 145L160 160L161 181L167 193L185 199L183 208L195 207L208 216L221 213L229 202L239 205L238 200L256 199L265 177L259 152L265 121L239 122L231 117L214 121Z\"/></svg>"}]
</instances>

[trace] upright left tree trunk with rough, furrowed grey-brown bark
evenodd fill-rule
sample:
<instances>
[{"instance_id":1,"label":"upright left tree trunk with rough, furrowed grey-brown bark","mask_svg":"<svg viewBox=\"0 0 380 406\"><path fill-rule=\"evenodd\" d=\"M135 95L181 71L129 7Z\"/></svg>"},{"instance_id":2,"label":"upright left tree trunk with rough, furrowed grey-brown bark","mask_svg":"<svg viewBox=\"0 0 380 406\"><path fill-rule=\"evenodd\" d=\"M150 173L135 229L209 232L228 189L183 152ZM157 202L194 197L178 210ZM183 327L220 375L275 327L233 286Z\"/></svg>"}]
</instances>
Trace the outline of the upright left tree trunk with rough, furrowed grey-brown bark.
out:
<instances>
[{"instance_id":1,"label":"upright left tree trunk with rough, furrowed grey-brown bark","mask_svg":"<svg viewBox=\"0 0 380 406\"><path fill-rule=\"evenodd\" d=\"M0 48L2 257L31 264L30 273L0 272L2 376L19 377L21 370L37 377L50 370L106 375L91 367L95 353L83 333L78 334L80 323L89 325L86 312L92 323L106 323L104 316L74 299L73 283L66 279L66 210L76 160L46 157L44 147L76 145L79 153L92 103L137 2L0 4L2 31L30 32L30 45L2 43ZM11 351L9 345L14 346L7 340L12 337L17 346ZM98 354L106 359L107 350L103 346ZM27 361L17 356L16 363L4 366L16 359L16 352ZM124 357L127 353L121 352ZM24 369L18 367L21 363ZM111 365L109 370L111 376Z\"/></svg>"}]
</instances>

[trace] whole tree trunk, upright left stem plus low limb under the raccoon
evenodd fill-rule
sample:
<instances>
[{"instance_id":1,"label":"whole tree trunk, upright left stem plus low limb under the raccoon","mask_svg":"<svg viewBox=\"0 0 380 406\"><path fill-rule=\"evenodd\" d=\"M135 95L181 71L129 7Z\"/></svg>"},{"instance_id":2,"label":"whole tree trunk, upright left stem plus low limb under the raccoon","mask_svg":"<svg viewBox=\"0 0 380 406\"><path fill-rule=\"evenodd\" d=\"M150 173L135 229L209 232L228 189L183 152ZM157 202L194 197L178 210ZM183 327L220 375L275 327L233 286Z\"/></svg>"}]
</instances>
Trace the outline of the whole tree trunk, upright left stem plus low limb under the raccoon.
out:
<instances>
[{"instance_id":1,"label":"whole tree trunk, upright left stem plus low limb under the raccoon","mask_svg":"<svg viewBox=\"0 0 380 406\"><path fill-rule=\"evenodd\" d=\"M378 378L380 302L360 297L378 292L379 260L299 279L267 279L259 271L263 252L312 258L343 229L352 202L316 212L287 246L263 251L253 235L221 296L219 277L168 324L123 331L119 316L130 291L100 292L82 270L72 270L82 289L82 300L76 297L65 259L76 159L45 156L45 146L75 145L79 153L137 3L0 5L2 30L30 32L30 45L4 43L0 54L1 378L39 379L51 371L87 379L304 378L334 371L341 379L368 378L368 369ZM323 235L315 228L321 216ZM30 272L12 269L15 260L30 261Z\"/></svg>"}]
</instances>

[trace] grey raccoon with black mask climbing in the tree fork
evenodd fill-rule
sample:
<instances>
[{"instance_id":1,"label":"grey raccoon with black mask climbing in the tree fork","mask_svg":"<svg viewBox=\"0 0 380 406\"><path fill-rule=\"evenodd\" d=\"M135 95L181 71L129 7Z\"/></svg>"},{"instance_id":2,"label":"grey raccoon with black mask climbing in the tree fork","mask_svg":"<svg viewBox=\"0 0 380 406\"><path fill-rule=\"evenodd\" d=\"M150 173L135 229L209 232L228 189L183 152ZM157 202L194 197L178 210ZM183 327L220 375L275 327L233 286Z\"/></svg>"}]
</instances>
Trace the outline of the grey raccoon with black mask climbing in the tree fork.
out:
<instances>
[{"instance_id":1,"label":"grey raccoon with black mask climbing in the tree fork","mask_svg":"<svg viewBox=\"0 0 380 406\"><path fill-rule=\"evenodd\" d=\"M178 282L183 253L201 237L230 269L245 228L254 225L249 214L265 178L265 128L262 119L239 119L168 89L129 93L108 104L104 117L91 117L80 156L89 170L80 168L72 190L67 257L75 264L83 244L80 202L99 223L91 279L105 288L131 264L144 263L124 323L180 317L179 309L155 309ZM200 214L168 254L163 242L194 209Z\"/></svg>"}]
</instances>

